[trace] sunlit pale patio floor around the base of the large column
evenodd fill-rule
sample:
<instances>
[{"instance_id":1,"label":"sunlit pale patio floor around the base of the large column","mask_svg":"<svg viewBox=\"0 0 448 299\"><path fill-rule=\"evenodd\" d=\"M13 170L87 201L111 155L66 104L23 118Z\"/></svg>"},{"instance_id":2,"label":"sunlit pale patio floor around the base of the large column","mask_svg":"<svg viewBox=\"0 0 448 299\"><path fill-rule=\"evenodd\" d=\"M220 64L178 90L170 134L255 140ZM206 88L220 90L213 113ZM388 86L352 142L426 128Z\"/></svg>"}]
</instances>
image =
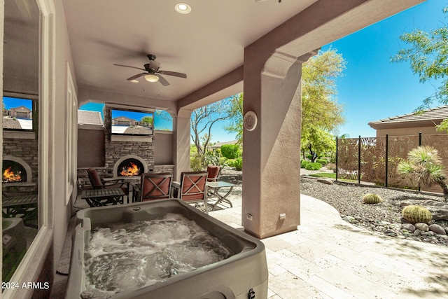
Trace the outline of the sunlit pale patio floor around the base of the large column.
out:
<instances>
[{"instance_id":1,"label":"sunlit pale patio floor around the base of the large column","mask_svg":"<svg viewBox=\"0 0 448 299\"><path fill-rule=\"evenodd\" d=\"M233 207L211 216L241 229L241 186ZM296 231L262 239L268 298L448 298L448 248L380 235L301 195Z\"/></svg>"}]
</instances>

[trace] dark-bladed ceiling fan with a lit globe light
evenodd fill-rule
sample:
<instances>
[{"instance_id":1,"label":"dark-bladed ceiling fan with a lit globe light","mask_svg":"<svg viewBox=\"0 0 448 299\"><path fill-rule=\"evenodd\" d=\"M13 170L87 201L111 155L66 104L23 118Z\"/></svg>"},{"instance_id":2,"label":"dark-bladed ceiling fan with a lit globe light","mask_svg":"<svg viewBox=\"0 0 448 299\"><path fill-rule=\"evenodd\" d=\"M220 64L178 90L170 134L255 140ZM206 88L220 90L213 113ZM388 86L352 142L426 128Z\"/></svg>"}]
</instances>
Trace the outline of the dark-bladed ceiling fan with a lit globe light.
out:
<instances>
[{"instance_id":1,"label":"dark-bladed ceiling fan with a lit globe light","mask_svg":"<svg viewBox=\"0 0 448 299\"><path fill-rule=\"evenodd\" d=\"M167 76L174 76L179 78L187 78L186 74L178 73L177 71L162 71L160 69L160 63L155 61L155 55L149 54L146 55L148 57L149 63L144 64L144 69L140 67L131 67L129 65L123 65L123 64L113 64L117 67L130 67L132 69L141 69L142 71L145 71L144 73L137 74L135 76L132 76L130 78L127 78L127 81L134 81L137 78L140 78L141 76L145 76L145 80L148 82L160 82L162 85L167 86L169 85L169 82L167 79L165 79L162 75Z\"/></svg>"}]
</instances>

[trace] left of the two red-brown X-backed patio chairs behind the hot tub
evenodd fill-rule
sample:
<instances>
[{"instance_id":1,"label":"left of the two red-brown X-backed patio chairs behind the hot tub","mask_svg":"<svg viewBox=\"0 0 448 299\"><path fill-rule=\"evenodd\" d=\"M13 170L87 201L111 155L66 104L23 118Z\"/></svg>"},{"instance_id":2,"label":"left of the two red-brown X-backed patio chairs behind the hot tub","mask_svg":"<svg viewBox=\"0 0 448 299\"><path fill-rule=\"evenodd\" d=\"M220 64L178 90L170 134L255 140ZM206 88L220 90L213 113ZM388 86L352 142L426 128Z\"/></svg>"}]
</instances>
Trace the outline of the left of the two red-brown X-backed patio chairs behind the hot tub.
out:
<instances>
[{"instance_id":1,"label":"left of the two red-brown X-backed patio chairs behind the hot tub","mask_svg":"<svg viewBox=\"0 0 448 299\"><path fill-rule=\"evenodd\" d=\"M149 200L160 200L171 197L171 183L173 174L141 174L140 195L137 199L140 202Z\"/></svg>"}]
</instances>

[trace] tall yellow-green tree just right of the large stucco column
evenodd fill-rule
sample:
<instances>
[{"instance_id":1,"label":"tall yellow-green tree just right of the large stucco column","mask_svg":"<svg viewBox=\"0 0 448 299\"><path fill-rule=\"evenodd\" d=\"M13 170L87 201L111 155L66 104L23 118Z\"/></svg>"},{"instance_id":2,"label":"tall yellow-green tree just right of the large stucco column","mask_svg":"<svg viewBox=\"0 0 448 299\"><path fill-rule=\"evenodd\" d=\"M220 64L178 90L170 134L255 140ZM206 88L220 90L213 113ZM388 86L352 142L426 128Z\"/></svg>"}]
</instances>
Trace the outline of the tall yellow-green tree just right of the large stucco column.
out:
<instances>
[{"instance_id":1,"label":"tall yellow-green tree just right of the large stucco column","mask_svg":"<svg viewBox=\"0 0 448 299\"><path fill-rule=\"evenodd\" d=\"M342 106L335 101L336 79L346 61L337 50L319 51L302 66L302 136L300 150L309 151L314 162L319 153L330 151L329 138L344 123Z\"/></svg>"}]
</instances>

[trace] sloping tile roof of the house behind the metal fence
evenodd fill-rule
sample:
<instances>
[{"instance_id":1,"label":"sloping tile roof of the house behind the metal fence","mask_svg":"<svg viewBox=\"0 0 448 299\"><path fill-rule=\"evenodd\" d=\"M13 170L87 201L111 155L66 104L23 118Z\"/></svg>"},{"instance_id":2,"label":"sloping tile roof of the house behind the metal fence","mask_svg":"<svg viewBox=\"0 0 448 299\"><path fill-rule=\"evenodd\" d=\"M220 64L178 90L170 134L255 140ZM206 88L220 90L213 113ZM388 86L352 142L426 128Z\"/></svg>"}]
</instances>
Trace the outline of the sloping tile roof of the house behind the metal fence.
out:
<instances>
[{"instance_id":1,"label":"sloping tile roof of the house behind the metal fence","mask_svg":"<svg viewBox=\"0 0 448 299\"><path fill-rule=\"evenodd\" d=\"M369 123L370 127L375 125L386 125L386 124L398 124L398 123L412 123L412 122L433 122L440 123L440 121L448 118L448 105L439 106L436 108L431 108L423 110L420 113L408 113L401 116L393 116L390 118L384 118L381 120L375 120Z\"/></svg>"}]
</instances>

